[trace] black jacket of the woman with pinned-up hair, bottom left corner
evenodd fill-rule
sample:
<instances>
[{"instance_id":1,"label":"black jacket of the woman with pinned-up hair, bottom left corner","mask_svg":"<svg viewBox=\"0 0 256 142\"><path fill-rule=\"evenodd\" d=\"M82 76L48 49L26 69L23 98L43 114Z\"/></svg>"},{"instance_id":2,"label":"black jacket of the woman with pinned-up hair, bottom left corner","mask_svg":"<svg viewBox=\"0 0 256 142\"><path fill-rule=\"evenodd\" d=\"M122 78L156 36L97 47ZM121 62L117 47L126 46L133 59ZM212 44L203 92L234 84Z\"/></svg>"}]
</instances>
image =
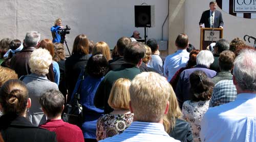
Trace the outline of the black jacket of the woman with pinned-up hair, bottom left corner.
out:
<instances>
[{"instance_id":1,"label":"black jacket of the woman with pinned-up hair, bottom left corner","mask_svg":"<svg viewBox=\"0 0 256 142\"><path fill-rule=\"evenodd\" d=\"M0 118L0 131L3 139L8 142L57 142L54 132L33 126L26 118L16 115L2 116Z\"/></svg>"}]
</instances>

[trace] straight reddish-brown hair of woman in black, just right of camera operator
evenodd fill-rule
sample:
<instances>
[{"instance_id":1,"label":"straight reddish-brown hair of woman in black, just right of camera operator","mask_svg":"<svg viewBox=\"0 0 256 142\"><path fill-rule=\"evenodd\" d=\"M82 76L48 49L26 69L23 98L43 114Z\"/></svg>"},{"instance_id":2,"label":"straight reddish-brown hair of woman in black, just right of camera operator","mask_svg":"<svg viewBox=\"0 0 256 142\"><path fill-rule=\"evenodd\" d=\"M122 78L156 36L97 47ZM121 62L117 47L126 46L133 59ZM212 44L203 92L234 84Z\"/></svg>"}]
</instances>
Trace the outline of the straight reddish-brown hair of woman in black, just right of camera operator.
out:
<instances>
[{"instance_id":1,"label":"straight reddish-brown hair of woman in black, just right of camera operator","mask_svg":"<svg viewBox=\"0 0 256 142\"><path fill-rule=\"evenodd\" d=\"M72 54L89 54L89 41L86 35L76 36L73 44Z\"/></svg>"}]
</instances>

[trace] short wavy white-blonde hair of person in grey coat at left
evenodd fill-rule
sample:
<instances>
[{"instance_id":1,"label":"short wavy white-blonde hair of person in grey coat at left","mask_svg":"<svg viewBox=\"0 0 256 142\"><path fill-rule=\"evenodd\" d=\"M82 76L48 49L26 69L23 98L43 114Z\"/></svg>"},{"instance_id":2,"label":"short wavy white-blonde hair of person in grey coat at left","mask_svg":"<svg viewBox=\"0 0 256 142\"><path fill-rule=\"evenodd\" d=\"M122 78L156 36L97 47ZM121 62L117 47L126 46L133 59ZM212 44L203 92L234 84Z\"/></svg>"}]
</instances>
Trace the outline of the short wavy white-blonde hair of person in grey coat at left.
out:
<instances>
[{"instance_id":1,"label":"short wavy white-blonde hair of person in grey coat at left","mask_svg":"<svg viewBox=\"0 0 256 142\"><path fill-rule=\"evenodd\" d=\"M29 67L32 73L46 75L51 64L52 56L46 49L35 49L30 55Z\"/></svg>"}]
</instances>

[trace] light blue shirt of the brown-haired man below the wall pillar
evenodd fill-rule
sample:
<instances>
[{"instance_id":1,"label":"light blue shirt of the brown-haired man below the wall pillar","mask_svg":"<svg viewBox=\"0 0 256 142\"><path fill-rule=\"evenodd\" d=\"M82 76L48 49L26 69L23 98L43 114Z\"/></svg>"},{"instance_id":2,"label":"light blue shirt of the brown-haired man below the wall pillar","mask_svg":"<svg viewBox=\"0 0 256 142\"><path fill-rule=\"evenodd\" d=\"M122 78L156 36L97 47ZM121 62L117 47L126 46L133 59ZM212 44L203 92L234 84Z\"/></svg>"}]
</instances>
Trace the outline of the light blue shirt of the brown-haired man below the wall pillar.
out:
<instances>
[{"instance_id":1,"label":"light blue shirt of the brown-haired man below the wall pillar","mask_svg":"<svg viewBox=\"0 0 256 142\"><path fill-rule=\"evenodd\" d=\"M167 77L168 82L173 78L175 73L182 67L186 67L189 60L189 52L186 49L179 49L177 52L168 55L165 58L163 71L164 76Z\"/></svg>"}]
</instances>

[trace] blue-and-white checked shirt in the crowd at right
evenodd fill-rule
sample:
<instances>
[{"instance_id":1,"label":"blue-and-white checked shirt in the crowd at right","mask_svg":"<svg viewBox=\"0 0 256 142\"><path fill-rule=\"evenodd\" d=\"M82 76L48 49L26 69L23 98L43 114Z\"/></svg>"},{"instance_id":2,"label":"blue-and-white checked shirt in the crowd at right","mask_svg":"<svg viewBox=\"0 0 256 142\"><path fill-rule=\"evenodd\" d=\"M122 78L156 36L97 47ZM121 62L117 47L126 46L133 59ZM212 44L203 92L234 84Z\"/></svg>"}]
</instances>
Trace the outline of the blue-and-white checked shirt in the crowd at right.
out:
<instances>
[{"instance_id":1,"label":"blue-and-white checked shirt in the crowd at right","mask_svg":"<svg viewBox=\"0 0 256 142\"><path fill-rule=\"evenodd\" d=\"M229 103L237 98L237 89L233 80L221 80L215 84L214 92L211 95L209 107Z\"/></svg>"}]
</instances>

